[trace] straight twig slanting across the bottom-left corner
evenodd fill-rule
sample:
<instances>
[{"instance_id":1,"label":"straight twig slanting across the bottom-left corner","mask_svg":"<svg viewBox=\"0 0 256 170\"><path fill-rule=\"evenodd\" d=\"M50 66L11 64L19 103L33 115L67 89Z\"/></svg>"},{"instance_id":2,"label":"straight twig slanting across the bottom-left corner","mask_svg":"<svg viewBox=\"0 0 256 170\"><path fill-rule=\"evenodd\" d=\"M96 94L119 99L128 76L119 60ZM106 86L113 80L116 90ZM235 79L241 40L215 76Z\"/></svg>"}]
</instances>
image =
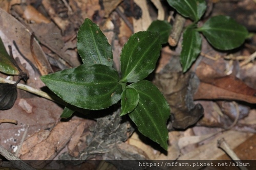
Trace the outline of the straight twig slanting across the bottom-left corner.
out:
<instances>
[{"instance_id":1,"label":"straight twig slanting across the bottom-left corner","mask_svg":"<svg viewBox=\"0 0 256 170\"><path fill-rule=\"evenodd\" d=\"M23 162L21 159L7 151L2 145L0 145L0 154L9 160L16 168L22 170L35 170L35 168L29 166L27 163Z\"/></svg>"}]
</instances>

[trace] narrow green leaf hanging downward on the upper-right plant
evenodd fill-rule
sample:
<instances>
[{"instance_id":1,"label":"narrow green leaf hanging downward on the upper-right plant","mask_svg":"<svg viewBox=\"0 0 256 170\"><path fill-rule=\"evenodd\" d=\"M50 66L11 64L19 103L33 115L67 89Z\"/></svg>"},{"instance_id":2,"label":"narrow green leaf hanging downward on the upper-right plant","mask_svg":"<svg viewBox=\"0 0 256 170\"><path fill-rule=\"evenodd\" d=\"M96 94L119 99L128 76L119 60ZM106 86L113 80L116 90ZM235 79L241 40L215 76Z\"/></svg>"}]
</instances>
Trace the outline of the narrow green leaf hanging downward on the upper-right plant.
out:
<instances>
[{"instance_id":1,"label":"narrow green leaf hanging downward on the upper-right plant","mask_svg":"<svg viewBox=\"0 0 256 170\"><path fill-rule=\"evenodd\" d=\"M180 62L183 72L197 59L201 52L202 39L200 34L193 28L193 25L187 27L183 33L182 50L180 54Z\"/></svg>"}]
</instances>

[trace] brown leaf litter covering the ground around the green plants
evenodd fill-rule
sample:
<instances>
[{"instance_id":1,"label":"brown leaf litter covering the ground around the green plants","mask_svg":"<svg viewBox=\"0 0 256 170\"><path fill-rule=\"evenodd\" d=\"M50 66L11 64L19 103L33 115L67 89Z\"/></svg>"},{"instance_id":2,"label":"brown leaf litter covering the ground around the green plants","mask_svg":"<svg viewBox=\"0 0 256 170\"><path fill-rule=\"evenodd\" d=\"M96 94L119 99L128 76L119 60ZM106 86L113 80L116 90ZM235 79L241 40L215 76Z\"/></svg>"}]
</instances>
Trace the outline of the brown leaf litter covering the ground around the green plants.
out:
<instances>
[{"instance_id":1,"label":"brown leaf litter covering the ground around the green plants","mask_svg":"<svg viewBox=\"0 0 256 170\"><path fill-rule=\"evenodd\" d=\"M80 64L76 52L76 34L85 18L88 17L96 22L108 37L113 47L114 65L119 70L117 56L120 56L121 48L127 38L132 33L146 30L152 20L157 19L159 12L155 11L153 4L146 6L145 1L135 0L130 5L140 8L135 8L138 11L132 11L130 16L123 15L125 20L120 15L120 11L125 14L124 4L119 4L121 1L115 1L114 4L109 1L82 3L78 0L38 2L33 0L26 1L25 4L16 0L8 3L0 2L2 26L0 36L6 48L8 45L12 46L13 56L19 58L29 72L27 85L37 89L44 87L39 75ZM212 5L212 2L208 3L208 6ZM221 12L229 12L233 15L234 12L230 11L236 8L224 8L223 4L225 3L217 2L216 5L220 7L213 8L212 14L219 14L222 10ZM248 11L248 15L252 15L250 11L255 7L253 1L241 1L233 5L243 9L243 12ZM237 18L238 22L241 21L239 16L243 15L243 12L236 12L234 18ZM244 21L245 19L241 22ZM250 21L244 25L250 31L255 31L255 26L251 23L256 22ZM130 25L133 26L133 30ZM32 32L36 37L33 40L34 53L44 72L38 71L38 65L32 56L30 43ZM171 48L172 50L166 46L162 48L153 82L166 95L171 109L173 108L171 113L174 116L170 117L168 123L170 131L167 153L154 147L154 143L143 139L139 132L136 131L132 135L133 125L120 122L120 117L115 116L118 111L111 111L112 114L103 117L81 118L84 116L77 114L70 120L63 121L59 119L63 107L22 90L17 90L17 100L11 109L0 111L0 119L18 120L18 125L0 124L0 144L22 159L54 157L59 159L59 156L62 159L65 156L66 159L79 159L83 156L84 159L213 160L223 158L225 155L217 148L217 140L224 137L240 159L254 159L253 153L256 147L253 147L251 141L255 138L253 133L256 131L256 114L253 105L256 103L256 66L252 61L241 67L239 63L246 57L237 60L236 56L250 56L254 53L256 38L252 36L243 47L231 51L234 58L228 58L230 54L216 51L203 37L202 39L201 55L194 67L185 75L180 74L179 68L176 68L180 65L177 56L180 54L182 38L177 47ZM1 77L7 76L1 74ZM187 96L186 100L184 96ZM237 117L236 125L231 130L219 133L220 128L230 127ZM179 119L183 124L180 124ZM115 125L108 129L107 127L112 125L114 120ZM24 134L26 136L23 141ZM111 137L107 134L111 134ZM54 136L58 136L58 140ZM246 145L249 149L245 148ZM45 154L38 155L35 151L42 148L47 148ZM239 154L244 151L246 153ZM37 166L44 166L40 163L42 162Z\"/></svg>"}]
</instances>

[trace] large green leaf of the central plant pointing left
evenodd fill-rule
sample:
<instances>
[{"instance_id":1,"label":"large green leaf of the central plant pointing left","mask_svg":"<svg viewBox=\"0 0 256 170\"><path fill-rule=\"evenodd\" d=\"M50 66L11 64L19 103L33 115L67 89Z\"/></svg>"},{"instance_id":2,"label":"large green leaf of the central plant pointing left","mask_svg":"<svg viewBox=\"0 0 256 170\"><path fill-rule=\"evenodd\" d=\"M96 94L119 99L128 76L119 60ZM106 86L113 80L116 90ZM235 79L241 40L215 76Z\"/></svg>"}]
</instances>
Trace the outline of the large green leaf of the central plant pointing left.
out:
<instances>
[{"instance_id":1,"label":"large green leaf of the central plant pointing left","mask_svg":"<svg viewBox=\"0 0 256 170\"><path fill-rule=\"evenodd\" d=\"M41 80L62 100L83 109L100 110L121 99L118 72L101 64L66 69Z\"/></svg>"}]
</instances>

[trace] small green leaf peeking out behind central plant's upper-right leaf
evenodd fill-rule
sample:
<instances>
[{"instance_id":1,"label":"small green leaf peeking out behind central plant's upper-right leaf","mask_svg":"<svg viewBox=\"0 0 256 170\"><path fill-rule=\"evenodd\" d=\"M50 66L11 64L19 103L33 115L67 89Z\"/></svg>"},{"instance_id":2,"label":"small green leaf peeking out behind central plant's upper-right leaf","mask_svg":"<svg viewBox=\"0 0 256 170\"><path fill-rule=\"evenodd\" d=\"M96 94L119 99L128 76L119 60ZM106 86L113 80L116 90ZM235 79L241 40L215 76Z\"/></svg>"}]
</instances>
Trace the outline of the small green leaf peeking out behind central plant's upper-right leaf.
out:
<instances>
[{"instance_id":1,"label":"small green leaf peeking out behind central plant's upper-right leaf","mask_svg":"<svg viewBox=\"0 0 256 170\"><path fill-rule=\"evenodd\" d=\"M147 31L157 32L160 34L162 44L168 42L170 30L172 30L172 25L170 25L166 20L155 20L151 23L150 27L147 28Z\"/></svg>"}]
</instances>

